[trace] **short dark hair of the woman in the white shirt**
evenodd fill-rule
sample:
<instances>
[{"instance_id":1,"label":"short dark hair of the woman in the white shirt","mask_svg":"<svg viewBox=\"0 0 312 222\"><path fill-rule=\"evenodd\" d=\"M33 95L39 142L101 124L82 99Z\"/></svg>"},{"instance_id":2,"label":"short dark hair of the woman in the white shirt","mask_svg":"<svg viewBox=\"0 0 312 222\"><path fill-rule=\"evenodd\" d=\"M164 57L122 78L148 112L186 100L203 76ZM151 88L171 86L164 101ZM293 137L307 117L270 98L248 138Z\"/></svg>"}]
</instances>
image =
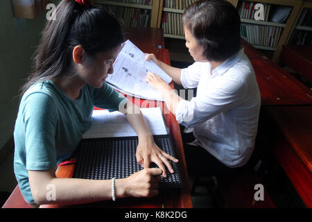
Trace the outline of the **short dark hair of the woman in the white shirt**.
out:
<instances>
[{"instance_id":1,"label":"short dark hair of the woman in the white shirt","mask_svg":"<svg viewBox=\"0 0 312 222\"><path fill-rule=\"evenodd\" d=\"M183 14L186 26L209 61L224 61L241 48L241 19L228 1L196 1Z\"/></svg>"}]
</instances>

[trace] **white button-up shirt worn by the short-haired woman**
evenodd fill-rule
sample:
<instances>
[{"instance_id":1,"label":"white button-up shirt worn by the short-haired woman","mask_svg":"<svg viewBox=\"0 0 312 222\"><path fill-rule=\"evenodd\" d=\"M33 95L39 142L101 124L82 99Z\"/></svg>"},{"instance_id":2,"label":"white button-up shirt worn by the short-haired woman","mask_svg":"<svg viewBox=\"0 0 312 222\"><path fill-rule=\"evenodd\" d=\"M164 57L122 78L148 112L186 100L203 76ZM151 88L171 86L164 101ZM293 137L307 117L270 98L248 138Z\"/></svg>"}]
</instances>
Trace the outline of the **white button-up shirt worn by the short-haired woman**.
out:
<instances>
[{"instance_id":1,"label":"white button-up shirt worn by the short-haired woman","mask_svg":"<svg viewBox=\"0 0 312 222\"><path fill-rule=\"evenodd\" d=\"M196 97L177 104L176 119L193 128L196 141L228 167L241 167L254 149L261 97L254 69L243 49L211 72L209 62L182 69L184 88Z\"/></svg>"}]
</instances>

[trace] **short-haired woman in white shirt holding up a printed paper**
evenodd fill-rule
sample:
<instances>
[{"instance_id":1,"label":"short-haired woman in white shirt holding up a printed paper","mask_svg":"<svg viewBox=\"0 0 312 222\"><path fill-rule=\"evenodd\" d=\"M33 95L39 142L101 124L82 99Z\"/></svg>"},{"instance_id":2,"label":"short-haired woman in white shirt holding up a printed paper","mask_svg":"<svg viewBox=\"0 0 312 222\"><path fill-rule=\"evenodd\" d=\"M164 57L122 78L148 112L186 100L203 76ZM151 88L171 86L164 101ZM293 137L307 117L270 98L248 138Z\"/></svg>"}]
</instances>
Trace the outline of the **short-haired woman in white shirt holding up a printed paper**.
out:
<instances>
[{"instance_id":1,"label":"short-haired woman in white shirt holding up a printed paper","mask_svg":"<svg viewBox=\"0 0 312 222\"><path fill-rule=\"evenodd\" d=\"M189 173L216 175L245 165L254 150L261 98L250 61L241 48L239 14L227 1L196 1L183 14L186 46L195 60L186 69L147 54L184 88L197 87L191 101L149 73L179 123L193 131L184 144ZM182 135L183 137L183 135Z\"/></svg>"}]
</instances>

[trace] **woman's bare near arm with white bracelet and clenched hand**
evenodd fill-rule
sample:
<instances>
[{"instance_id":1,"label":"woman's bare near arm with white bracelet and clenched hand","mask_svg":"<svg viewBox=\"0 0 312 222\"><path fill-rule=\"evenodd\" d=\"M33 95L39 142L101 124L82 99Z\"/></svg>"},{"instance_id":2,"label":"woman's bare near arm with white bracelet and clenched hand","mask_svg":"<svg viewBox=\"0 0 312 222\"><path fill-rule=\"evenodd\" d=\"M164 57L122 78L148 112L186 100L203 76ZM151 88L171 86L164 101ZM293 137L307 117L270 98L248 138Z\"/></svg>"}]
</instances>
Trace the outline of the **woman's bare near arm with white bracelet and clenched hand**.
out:
<instances>
[{"instance_id":1,"label":"woman's bare near arm with white bracelet and clenched hand","mask_svg":"<svg viewBox=\"0 0 312 222\"><path fill-rule=\"evenodd\" d=\"M150 197L159 191L162 169L144 169L115 180L116 198ZM112 180L56 178L55 169L28 171L31 194L37 205L80 204L112 199Z\"/></svg>"}]
</instances>

